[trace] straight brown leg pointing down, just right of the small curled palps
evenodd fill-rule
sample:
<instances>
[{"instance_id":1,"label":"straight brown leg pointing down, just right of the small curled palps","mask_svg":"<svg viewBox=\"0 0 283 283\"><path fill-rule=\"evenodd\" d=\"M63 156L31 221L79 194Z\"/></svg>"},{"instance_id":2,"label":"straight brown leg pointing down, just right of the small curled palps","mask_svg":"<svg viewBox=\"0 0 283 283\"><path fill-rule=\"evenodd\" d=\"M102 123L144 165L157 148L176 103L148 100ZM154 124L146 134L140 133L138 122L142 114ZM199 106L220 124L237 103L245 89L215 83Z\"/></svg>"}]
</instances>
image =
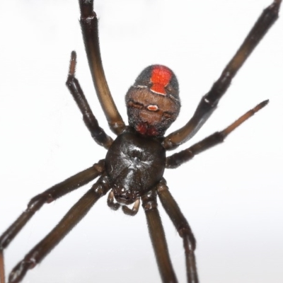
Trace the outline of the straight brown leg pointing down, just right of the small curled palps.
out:
<instances>
[{"instance_id":1,"label":"straight brown leg pointing down, just right of the small curled palps","mask_svg":"<svg viewBox=\"0 0 283 283\"><path fill-rule=\"evenodd\" d=\"M157 209L156 191L149 192L147 195L141 197L141 200L162 282L176 283L178 280L169 257L165 233Z\"/></svg>"}]
</instances>

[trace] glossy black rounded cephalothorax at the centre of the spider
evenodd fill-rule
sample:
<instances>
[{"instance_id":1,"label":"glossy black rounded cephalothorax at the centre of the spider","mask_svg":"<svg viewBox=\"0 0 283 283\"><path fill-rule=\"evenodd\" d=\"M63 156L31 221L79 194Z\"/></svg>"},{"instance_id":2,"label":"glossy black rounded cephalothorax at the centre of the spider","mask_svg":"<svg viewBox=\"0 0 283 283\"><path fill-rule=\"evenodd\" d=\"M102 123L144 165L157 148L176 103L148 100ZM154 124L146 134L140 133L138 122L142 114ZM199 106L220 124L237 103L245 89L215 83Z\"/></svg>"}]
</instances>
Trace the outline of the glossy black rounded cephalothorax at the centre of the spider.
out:
<instances>
[{"instance_id":1,"label":"glossy black rounded cephalothorax at the centre of the spider","mask_svg":"<svg viewBox=\"0 0 283 283\"><path fill-rule=\"evenodd\" d=\"M117 202L131 204L151 190L161 180L165 163L165 149L157 140L136 132L120 134L105 158L105 171Z\"/></svg>"}]
</instances>

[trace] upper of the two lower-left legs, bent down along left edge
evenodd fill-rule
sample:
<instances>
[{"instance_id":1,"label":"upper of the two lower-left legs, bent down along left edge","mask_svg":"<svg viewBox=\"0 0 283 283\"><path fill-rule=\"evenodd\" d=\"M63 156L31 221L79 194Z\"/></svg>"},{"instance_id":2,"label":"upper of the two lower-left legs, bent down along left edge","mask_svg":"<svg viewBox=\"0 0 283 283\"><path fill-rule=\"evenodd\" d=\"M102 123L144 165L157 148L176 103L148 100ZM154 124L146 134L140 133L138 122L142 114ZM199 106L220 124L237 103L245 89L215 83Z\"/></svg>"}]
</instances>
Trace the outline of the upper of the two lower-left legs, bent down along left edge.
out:
<instances>
[{"instance_id":1,"label":"upper of the two lower-left legs, bent down along left edge","mask_svg":"<svg viewBox=\"0 0 283 283\"><path fill-rule=\"evenodd\" d=\"M76 190L78 187L86 185L91 180L101 175L104 171L104 160L99 161L90 168L87 168L80 173L64 180L62 183L50 187L40 195L33 197L28 203L27 209L13 222L11 226L0 237L0 282L4 283L4 260L3 250L8 244L15 238L15 236L21 231L23 226L27 224L30 218L39 210L43 204L50 203L53 200L57 200L63 195Z\"/></svg>"}]
</instances>

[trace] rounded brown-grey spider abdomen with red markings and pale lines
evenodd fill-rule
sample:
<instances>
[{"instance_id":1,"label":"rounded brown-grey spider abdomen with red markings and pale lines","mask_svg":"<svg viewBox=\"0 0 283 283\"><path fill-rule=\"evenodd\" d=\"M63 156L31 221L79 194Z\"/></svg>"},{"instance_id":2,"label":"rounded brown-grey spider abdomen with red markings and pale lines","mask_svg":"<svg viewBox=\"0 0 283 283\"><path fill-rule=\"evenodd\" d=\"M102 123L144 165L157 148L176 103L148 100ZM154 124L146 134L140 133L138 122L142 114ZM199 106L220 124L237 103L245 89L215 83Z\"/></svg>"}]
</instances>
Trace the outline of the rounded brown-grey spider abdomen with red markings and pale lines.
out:
<instances>
[{"instance_id":1,"label":"rounded brown-grey spider abdomen with red markings and pale lines","mask_svg":"<svg viewBox=\"0 0 283 283\"><path fill-rule=\"evenodd\" d=\"M171 69L152 65L126 95L129 125L140 134L162 137L180 112L178 81Z\"/></svg>"}]
</instances>

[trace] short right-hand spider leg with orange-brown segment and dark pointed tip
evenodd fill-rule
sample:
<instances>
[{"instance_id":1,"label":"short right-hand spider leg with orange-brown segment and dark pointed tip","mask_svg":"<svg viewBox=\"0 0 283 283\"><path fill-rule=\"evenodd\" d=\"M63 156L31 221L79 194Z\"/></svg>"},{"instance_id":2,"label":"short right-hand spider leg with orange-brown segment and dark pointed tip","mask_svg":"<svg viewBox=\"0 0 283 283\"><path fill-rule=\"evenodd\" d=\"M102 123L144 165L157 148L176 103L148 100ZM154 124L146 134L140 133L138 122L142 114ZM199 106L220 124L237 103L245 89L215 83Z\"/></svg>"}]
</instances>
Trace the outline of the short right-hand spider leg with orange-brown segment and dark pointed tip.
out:
<instances>
[{"instance_id":1,"label":"short right-hand spider leg with orange-brown segment and dark pointed tip","mask_svg":"<svg viewBox=\"0 0 283 283\"><path fill-rule=\"evenodd\" d=\"M196 154L200 154L200 152L210 149L212 146L216 146L216 144L220 144L231 132L233 132L234 129L239 127L243 122L248 120L248 118L250 118L260 109L265 107L267 103L268 100L262 101L262 103L256 105L255 108L248 110L248 112L239 117L238 120L233 122L221 132L215 132L209 137L202 139L202 141L197 142L197 144L193 144L188 149L168 156L166 158L166 168L177 168L178 166L192 159Z\"/></svg>"}]
</instances>

